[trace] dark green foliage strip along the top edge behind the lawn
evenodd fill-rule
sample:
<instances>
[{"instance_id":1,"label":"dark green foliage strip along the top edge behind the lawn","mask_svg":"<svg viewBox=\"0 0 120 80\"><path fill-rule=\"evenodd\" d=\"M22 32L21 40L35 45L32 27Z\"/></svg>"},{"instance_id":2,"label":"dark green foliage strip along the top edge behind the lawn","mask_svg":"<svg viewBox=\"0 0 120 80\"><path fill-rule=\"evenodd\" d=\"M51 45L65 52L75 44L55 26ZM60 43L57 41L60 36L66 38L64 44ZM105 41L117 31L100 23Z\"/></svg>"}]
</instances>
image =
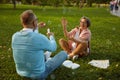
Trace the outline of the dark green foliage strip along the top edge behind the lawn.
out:
<instances>
[{"instance_id":1,"label":"dark green foliage strip along the top edge behind the lawn","mask_svg":"<svg viewBox=\"0 0 120 80\"><path fill-rule=\"evenodd\" d=\"M33 5L40 5L40 6L54 6L58 7L61 5L66 6L77 6L83 7L84 3L87 3L88 7L92 7L92 3L109 3L110 0L11 0L13 2L21 1L23 4L33 4ZM8 3L9 0L0 0L0 3ZM13 3L14 7L16 3Z\"/></svg>"}]
</instances>

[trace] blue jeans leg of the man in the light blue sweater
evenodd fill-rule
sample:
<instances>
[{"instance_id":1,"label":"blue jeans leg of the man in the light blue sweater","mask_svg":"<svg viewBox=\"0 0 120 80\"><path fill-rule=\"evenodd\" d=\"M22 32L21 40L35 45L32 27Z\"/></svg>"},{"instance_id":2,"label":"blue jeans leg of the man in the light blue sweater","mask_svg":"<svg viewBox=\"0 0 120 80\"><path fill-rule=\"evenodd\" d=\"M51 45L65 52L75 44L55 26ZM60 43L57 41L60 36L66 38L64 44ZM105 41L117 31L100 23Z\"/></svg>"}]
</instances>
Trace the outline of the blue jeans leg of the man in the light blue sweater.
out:
<instances>
[{"instance_id":1,"label":"blue jeans leg of the man in the light blue sweater","mask_svg":"<svg viewBox=\"0 0 120 80\"><path fill-rule=\"evenodd\" d=\"M67 53L65 51L59 52L57 55L55 55L52 59L46 61L45 66L45 72L40 75L40 78L37 80L45 80L47 76L54 71L56 68L58 68L62 63L67 59Z\"/></svg>"}]
</instances>

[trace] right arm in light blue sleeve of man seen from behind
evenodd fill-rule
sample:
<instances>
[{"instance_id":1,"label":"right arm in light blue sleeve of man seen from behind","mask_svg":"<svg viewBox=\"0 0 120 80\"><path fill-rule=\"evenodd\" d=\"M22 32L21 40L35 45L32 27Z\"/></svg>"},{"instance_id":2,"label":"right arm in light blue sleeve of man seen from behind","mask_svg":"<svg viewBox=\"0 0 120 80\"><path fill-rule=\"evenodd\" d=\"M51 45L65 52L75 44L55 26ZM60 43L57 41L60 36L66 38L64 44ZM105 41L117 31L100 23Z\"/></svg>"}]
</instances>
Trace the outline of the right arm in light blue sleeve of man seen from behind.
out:
<instances>
[{"instance_id":1,"label":"right arm in light blue sleeve of man seen from behind","mask_svg":"<svg viewBox=\"0 0 120 80\"><path fill-rule=\"evenodd\" d=\"M56 51L57 44L53 35L50 35L50 39L43 34L36 34L35 36L34 43L36 44L37 49L51 52Z\"/></svg>"}]
</instances>

